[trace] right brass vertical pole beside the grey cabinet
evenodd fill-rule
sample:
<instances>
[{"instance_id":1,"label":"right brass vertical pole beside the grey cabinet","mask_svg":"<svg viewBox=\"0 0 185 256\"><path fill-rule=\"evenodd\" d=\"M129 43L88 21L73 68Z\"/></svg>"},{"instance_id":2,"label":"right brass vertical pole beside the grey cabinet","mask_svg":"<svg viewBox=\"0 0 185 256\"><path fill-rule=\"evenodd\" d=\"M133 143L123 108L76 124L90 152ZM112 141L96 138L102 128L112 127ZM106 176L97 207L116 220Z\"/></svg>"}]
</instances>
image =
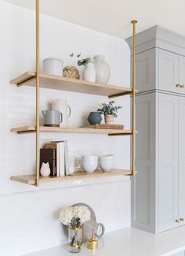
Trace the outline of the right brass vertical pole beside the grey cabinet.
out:
<instances>
[{"instance_id":1,"label":"right brass vertical pole beside the grey cabinet","mask_svg":"<svg viewBox=\"0 0 185 256\"><path fill-rule=\"evenodd\" d=\"M135 24L137 20L131 20L133 24L132 36L132 176L135 176Z\"/></svg>"}]
</instances>

